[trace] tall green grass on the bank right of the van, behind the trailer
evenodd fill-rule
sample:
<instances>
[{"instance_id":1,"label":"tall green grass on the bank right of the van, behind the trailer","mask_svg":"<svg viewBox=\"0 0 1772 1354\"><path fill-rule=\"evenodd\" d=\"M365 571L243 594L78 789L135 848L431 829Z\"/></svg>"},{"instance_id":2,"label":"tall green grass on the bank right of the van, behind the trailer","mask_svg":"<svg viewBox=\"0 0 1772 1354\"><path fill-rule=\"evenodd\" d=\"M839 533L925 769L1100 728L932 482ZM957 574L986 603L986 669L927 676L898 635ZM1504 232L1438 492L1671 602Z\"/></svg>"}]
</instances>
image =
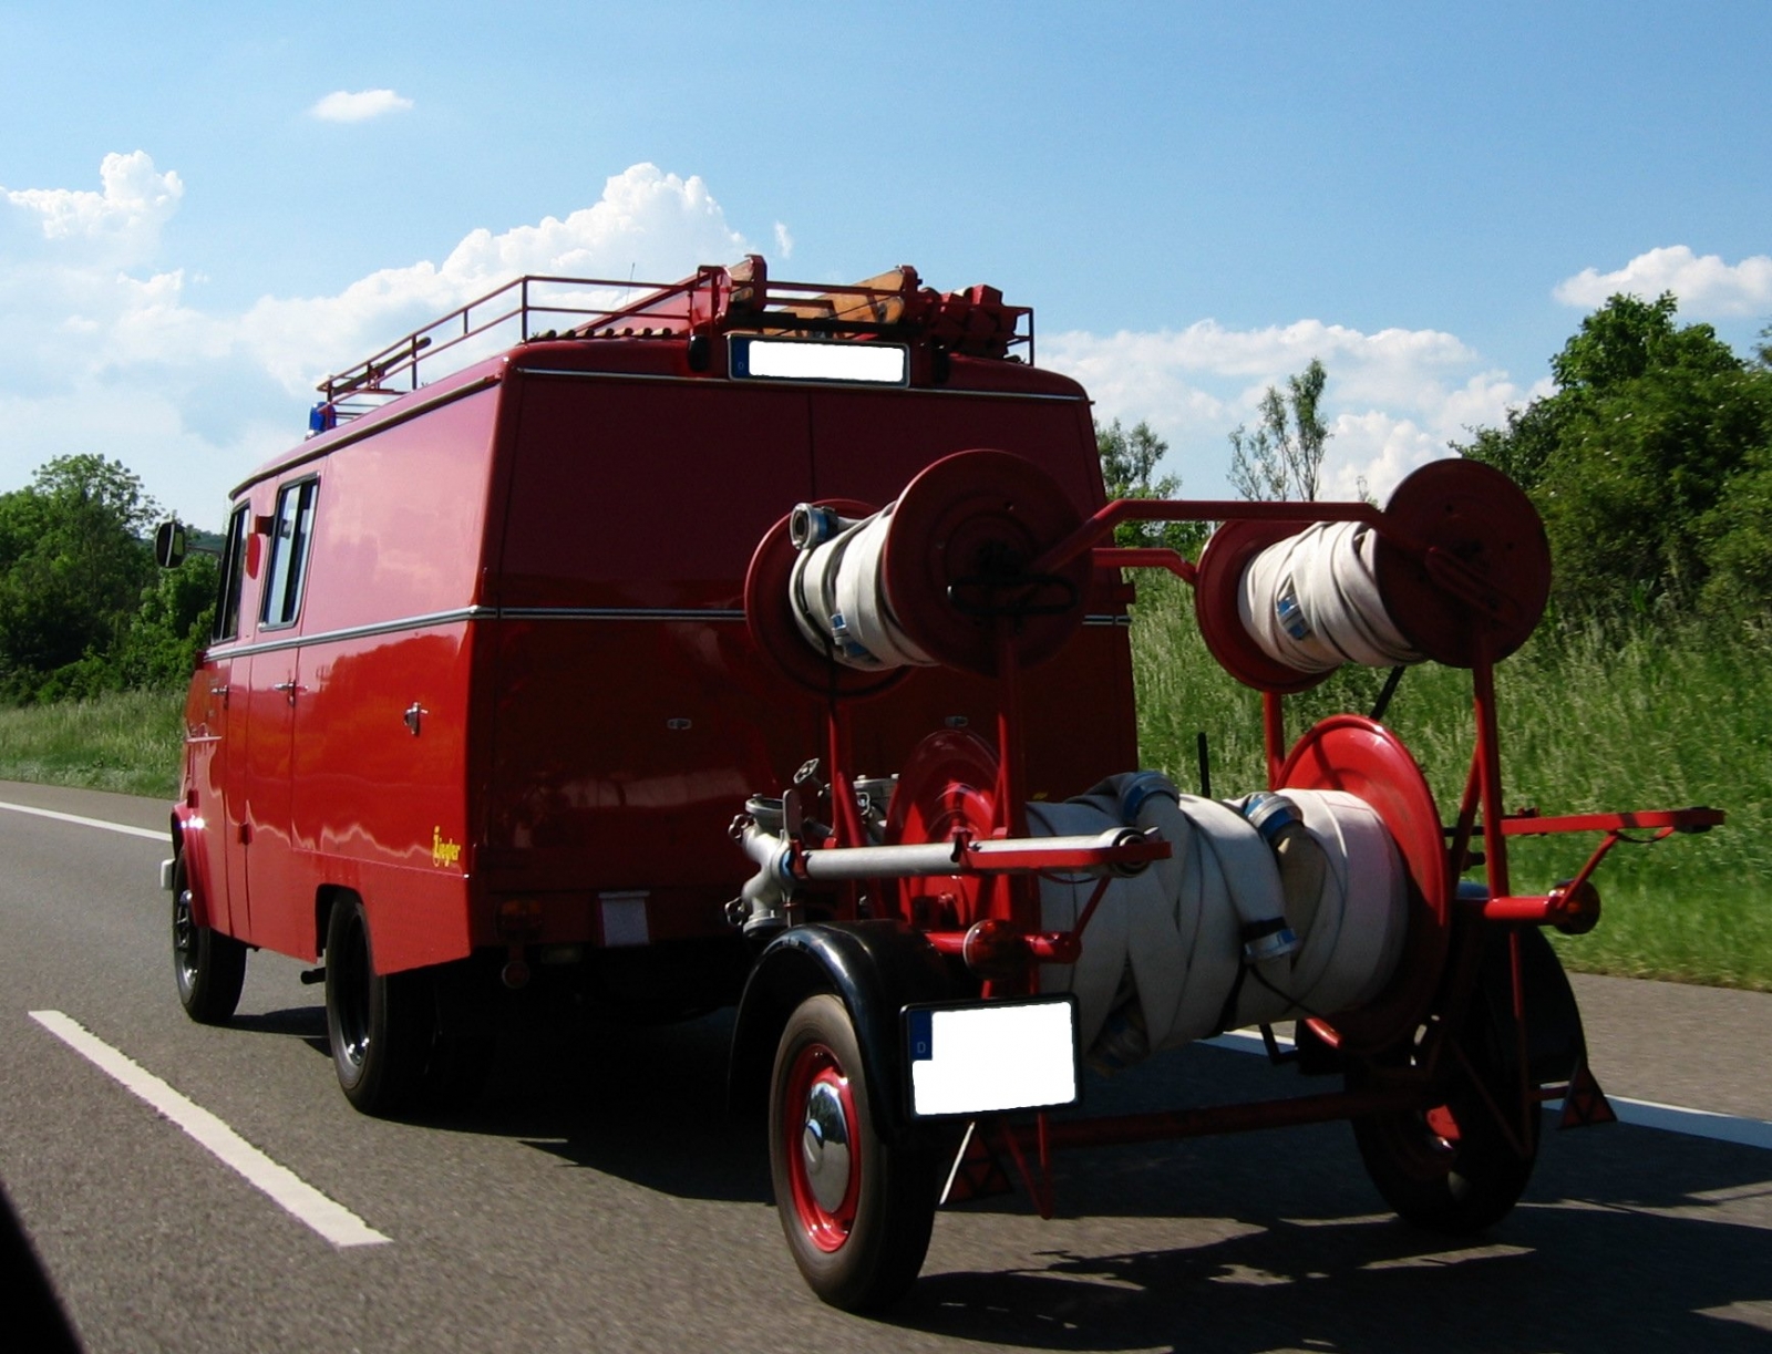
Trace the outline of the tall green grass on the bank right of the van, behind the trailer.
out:
<instances>
[{"instance_id":1,"label":"tall green grass on the bank right of the van, behind the trailer","mask_svg":"<svg viewBox=\"0 0 1772 1354\"><path fill-rule=\"evenodd\" d=\"M1132 665L1143 760L1194 787L1196 735L1205 730L1214 794L1262 787L1260 696L1207 652L1184 585L1150 576L1138 585ZM1343 668L1288 700L1288 737L1325 714L1368 712L1382 681L1379 672ZM1510 808L1712 805L1729 815L1701 837L1616 847L1595 875L1598 929L1552 936L1565 962L1772 991L1768 636L1545 627L1499 665L1496 688ZM1421 762L1441 815L1455 815L1471 764L1469 673L1411 668L1386 723ZM1598 835L1512 838L1515 891L1566 879L1597 844Z\"/></svg>"}]
</instances>

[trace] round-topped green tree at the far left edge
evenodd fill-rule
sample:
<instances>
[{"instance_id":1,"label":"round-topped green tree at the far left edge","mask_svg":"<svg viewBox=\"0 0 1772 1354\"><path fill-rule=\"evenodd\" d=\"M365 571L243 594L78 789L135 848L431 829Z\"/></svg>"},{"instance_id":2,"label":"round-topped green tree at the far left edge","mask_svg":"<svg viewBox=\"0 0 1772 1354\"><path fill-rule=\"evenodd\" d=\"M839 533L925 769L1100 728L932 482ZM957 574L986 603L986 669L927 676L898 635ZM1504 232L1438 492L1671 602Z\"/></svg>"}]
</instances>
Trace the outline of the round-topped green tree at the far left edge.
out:
<instances>
[{"instance_id":1,"label":"round-topped green tree at the far left edge","mask_svg":"<svg viewBox=\"0 0 1772 1354\"><path fill-rule=\"evenodd\" d=\"M154 580L142 537L156 512L122 463L90 454L0 494L0 691L32 698L122 640Z\"/></svg>"}]
</instances>

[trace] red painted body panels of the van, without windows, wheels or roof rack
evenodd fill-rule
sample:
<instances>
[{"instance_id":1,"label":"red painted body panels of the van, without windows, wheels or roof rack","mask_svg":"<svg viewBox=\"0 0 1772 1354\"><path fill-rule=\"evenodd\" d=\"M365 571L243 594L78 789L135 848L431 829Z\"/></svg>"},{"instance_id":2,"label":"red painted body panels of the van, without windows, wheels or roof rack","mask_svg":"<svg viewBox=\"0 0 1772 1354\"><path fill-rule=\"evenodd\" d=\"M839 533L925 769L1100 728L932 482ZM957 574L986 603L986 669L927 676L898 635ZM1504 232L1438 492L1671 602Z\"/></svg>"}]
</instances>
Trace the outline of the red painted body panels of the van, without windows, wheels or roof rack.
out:
<instances>
[{"instance_id":1,"label":"red painted body panels of the van, without windows, wheels or roof rack","mask_svg":"<svg viewBox=\"0 0 1772 1354\"><path fill-rule=\"evenodd\" d=\"M191 682L198 920L312 961L347 890L381 971L505 948L509 899L540 904L528 941L602 945L604 893L643 897L652 946L735 938L748 867L725 828L824 728L744 624L764 532L803 500L886 503L975 447L1037 463L1079 516L1102 505L1079 386L911 347L909 388L858 388L728 379L723 354L693 370L680 330L528 342L259 470L234 502L260 523L317 479L312 553L294 624L268 629L253 541L239 633ZM1037 794L1136 762L1118 574L1095 594L1097 624L1026 684ZM996 700L916 672L867 702L854 766L890 773L943 723L989 732Z\"/></svg>"}]
</instances>

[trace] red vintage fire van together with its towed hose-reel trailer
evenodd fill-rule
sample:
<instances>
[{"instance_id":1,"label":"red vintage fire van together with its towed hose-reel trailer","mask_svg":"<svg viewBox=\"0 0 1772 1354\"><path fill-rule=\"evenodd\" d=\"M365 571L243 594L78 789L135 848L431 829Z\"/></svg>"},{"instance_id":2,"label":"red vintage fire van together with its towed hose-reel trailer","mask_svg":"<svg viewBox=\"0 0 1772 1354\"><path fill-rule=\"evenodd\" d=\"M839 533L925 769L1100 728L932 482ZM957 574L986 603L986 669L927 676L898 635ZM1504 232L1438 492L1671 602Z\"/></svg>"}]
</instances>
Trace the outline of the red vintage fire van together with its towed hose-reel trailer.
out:
<instances>
[{"instance_id":1,"label":"red vintage fire van together with its towed hose-reel trailer","mask_svg":"<svg viewBox=\"0 0 1772 1354\"><path fill-rule=\"evenodd\" d=\"M991 287L751 257L523 278L330 377L232 496L165 868L186 1012L227 1021L252 948L323 964L338 1081L392 1115L475 1093L509 989L737 1003L734 1102L849 1308L994 1164L1049 1209L1067 1143L1348 1118L1400 1212L1497 1221L1543 1101L1605 1115L1538 929L1595 922L1623 833L1721 815L1503 812L1492 665L1549 580L1503 477L1106 503L1088 399L1033 347ZM1116 549L1139 516L1223 526L1198 564ZM1138 567L1194 583L1263 693L1267 785L1138 771ZM1288 746L1283 698L1348 659L1473 672L1444 821L1380 712ZM1519 895L1506 838L1545 831L1600 845ZM1244 1024L1343 1088L1077 1113L1083 1060Z\"/></svg>"}]
</instances>

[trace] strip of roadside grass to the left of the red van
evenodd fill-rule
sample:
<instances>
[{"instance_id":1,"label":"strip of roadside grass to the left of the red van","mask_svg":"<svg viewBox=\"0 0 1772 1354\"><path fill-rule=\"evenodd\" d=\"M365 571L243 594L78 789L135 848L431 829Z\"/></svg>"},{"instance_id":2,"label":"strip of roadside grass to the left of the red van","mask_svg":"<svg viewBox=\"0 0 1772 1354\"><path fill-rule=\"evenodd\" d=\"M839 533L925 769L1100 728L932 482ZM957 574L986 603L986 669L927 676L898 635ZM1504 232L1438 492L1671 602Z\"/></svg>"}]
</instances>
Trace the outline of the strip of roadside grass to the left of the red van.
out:
<instances>
[{"instance_id":1,"label":"strip of roadside grass to the left of the red van","mask_svg":"<svg viewBox=\"0 0 1772 1354\"><path fill-rule=\"evenodd\" d=\"M0 711L0 780L172 799L184 741L181 691L120 691Z\"/></svg>"}]
</instances>

